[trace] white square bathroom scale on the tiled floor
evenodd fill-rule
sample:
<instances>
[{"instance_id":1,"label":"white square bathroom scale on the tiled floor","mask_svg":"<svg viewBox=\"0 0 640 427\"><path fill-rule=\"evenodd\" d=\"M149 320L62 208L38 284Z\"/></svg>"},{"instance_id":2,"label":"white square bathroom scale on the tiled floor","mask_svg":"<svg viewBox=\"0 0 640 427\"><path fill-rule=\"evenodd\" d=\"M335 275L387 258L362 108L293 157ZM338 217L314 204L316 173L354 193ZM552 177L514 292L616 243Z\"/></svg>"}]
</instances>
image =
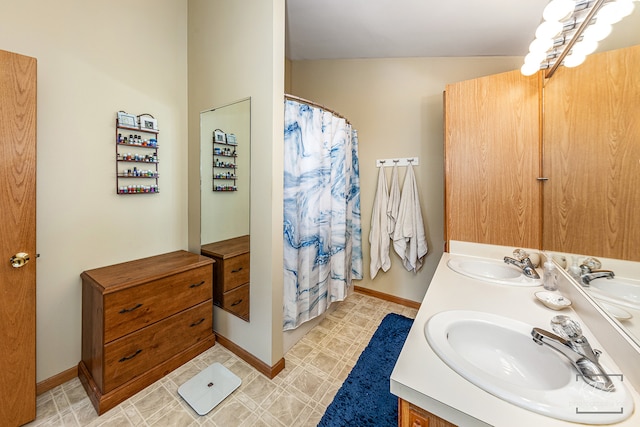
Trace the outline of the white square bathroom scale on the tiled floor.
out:
<instances>
[{"instance_id":1,"label":"white square bathroom scale on the tiled floor","mask_svg":"<svg viewBox=\"0 0 640 427\"><path fill-rule=\"evenodd\" d=\"M198 415L207 415L240 387L242 380L233 372L214 363L178 388L178 394Z\"/></svg>"}]
</instances>

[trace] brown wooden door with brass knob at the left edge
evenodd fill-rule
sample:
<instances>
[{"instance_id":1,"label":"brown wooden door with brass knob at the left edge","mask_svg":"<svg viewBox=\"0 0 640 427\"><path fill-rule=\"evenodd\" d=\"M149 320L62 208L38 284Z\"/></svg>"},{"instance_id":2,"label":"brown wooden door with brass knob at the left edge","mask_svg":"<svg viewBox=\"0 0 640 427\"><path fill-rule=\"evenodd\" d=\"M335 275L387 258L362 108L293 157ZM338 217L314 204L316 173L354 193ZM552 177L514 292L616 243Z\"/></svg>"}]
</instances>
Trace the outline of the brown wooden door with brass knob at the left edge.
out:
<instances>
[{"instance_id":1,"label":"brown wooden door with brass knob at the left edge","mask_svg":"<svg viewBox=\"0 0 640 427\"><path fill-rule=\"evenodd\" d=\"M19 426L36 416L36 60L3 50L0 206L0 425Z\"/></svg>"}]
</instances>

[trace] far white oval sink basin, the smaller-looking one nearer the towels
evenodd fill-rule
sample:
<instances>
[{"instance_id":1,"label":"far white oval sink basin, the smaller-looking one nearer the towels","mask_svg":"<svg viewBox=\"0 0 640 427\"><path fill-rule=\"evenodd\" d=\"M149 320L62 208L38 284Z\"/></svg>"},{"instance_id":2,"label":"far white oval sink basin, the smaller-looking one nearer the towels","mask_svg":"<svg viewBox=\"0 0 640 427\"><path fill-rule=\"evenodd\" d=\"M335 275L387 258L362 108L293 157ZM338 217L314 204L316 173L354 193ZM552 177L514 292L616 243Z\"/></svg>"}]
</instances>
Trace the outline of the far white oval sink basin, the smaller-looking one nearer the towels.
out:
<instances>
[{"instance_id":1,"label":"far white oval sink basin, the smaller-looking one nearer the towels","mask_svg":"<svg viewBox=\"0 0 640 427\"><path fill-rule=\"evenodd\" d=\"M447 265L456 273L485 282L512 286L542 284L541 279L530 279L519 268L503 261L455 256L449 259Z\"/></svg>"}]
</instances>

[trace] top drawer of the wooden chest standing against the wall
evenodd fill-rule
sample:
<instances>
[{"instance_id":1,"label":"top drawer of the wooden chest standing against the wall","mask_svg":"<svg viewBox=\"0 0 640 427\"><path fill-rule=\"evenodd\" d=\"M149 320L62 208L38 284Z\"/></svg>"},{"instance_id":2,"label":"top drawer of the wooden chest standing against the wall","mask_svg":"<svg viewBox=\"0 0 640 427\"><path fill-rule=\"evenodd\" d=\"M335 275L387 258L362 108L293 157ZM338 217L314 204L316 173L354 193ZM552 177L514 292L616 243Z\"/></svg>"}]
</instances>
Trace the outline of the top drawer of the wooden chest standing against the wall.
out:
<instances>
[{"instance_id":1,"label":"top drawer of the wooden chest standing against the wall","mask_svg":"<svg viewBox=\"0 0 640 427\"><path fill-rule=\"evenodd\" d=\"M104 296L104 343L123 337L212 297L205 265Z\"/></svg>"}]
</instances>

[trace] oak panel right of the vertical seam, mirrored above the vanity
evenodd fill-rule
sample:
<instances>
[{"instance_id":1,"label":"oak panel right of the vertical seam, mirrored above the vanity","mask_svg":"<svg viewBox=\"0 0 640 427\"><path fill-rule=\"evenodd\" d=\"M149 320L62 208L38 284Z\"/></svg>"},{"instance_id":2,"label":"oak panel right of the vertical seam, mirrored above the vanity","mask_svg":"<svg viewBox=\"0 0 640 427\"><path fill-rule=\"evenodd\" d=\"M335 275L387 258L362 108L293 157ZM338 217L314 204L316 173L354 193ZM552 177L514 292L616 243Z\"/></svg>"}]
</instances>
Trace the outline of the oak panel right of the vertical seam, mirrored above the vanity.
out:
<instances>
[{"instance_id":1,"label":"oak panel right of the vertical seam, mirrored above the vanity","mask_svg":"<svg viewBox=\"0 0 640 427\"><path fill-rule=\"evenodd\" d=\"M638 70L633 46L546 83L545 249L640 261Z\"/></svg>"}]
</instances>

